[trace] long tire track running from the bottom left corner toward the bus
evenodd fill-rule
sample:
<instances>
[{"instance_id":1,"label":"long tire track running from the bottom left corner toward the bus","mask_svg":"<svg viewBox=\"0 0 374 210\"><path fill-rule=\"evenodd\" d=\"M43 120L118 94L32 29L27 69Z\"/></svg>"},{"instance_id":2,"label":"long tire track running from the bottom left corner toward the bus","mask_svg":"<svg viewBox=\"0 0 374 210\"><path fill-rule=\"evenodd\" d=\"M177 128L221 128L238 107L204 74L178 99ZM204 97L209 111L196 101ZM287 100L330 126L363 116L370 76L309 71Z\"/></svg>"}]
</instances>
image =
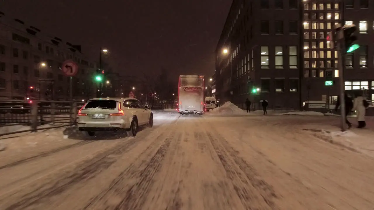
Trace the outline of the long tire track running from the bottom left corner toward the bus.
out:
<instances>
[{"instance_id":1,"label":"long tire track running from the bottom left corner toward the bus","mask_svg":"<svg viewBox=\"0 0 374 210\"><path fill-rule=\"evenodd\" d=\"M178 120L179 116L174 120ZM168 130L167 127L163 126L163 131ZM157 129L152 130L149 133L144 133L144 135L137 135L134 138L129 138L128 141L119 143L110 149L107 149L93 157L90 160L84 161L79 166L75 167L73 170L62 174L58 180L51 180L45 183L41 188L36 189L26 195L22 196L17 203L14 203L4 210L23 210L26 207L33 206L34 204L43 203L47 201L48 198L55 195L59 195L66 191L71 186L77 183L87 182L93 179L102 172L102 170L108 169L112 164L117 161L116 155L120 155L134 148L139 142L139 138L147 138L153 135ZM158 136L162 136L164 132Z\"/></svg>"}]
</instances>

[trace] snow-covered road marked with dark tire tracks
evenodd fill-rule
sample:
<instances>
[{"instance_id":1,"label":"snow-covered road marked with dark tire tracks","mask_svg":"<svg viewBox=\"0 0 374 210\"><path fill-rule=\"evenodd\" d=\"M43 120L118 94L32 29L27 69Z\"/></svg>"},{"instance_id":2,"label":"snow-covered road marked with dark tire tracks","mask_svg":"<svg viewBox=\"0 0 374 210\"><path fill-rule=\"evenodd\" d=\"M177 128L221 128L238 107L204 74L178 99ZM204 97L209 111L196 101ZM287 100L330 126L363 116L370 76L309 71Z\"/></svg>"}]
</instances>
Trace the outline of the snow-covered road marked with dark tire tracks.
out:
<instances>
[{"instance_id":1,"label":"snow-covered road marked with dark tire tracks","mask_svg":"<svg viewBox=\"0 0 374 210\"><path fill-rule=\"evenodd\" d=\"M338 123L159 112L135 138L5 139L0 209L373 210L374 158L321 140L321 121Z\"/></svg>"}]
</instances>

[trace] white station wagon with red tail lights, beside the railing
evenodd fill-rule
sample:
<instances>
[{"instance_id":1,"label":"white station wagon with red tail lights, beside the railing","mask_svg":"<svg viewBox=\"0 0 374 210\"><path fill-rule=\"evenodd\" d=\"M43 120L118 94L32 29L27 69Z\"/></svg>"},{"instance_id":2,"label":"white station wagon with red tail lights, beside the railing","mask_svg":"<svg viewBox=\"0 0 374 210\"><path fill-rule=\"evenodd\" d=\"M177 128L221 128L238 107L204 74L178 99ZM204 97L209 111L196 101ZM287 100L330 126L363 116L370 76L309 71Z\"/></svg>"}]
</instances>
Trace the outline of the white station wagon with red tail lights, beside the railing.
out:
<instances>
[{"instance_id":1,"label":"white station wagon with red tail lights, beside the railing","mask_svg":"<svg viewBox=\"0 0 374 210\"><path fill-rule=\"evenodd\" d=\"M78 128L89 136L96 131L125 130L136 136L139 126L153 126L153 113L135 98L94 98L78 111Z\"/></svg>"}]
</instances>

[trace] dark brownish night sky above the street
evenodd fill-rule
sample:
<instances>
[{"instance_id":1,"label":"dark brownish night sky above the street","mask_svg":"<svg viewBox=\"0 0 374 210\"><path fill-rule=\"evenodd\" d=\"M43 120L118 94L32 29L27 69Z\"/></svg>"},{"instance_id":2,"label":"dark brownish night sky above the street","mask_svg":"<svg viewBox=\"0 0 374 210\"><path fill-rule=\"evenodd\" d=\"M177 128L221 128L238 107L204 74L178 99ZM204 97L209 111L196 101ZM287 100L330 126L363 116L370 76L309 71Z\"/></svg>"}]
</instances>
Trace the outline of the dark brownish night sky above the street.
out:
<instances>
[{"instance_id":1,"label":"dark brownish night sky above the street","mask_svg":"<svg viewBox=\"0 0 374 210\"><path fill-rule=\"evenodd\" d=\"M110 3L109 3L110 2ZM2 0L0 11L98 60L107 47L122 75L214 72L214 50L232 0Z\"/></svg>"}]
</instances>

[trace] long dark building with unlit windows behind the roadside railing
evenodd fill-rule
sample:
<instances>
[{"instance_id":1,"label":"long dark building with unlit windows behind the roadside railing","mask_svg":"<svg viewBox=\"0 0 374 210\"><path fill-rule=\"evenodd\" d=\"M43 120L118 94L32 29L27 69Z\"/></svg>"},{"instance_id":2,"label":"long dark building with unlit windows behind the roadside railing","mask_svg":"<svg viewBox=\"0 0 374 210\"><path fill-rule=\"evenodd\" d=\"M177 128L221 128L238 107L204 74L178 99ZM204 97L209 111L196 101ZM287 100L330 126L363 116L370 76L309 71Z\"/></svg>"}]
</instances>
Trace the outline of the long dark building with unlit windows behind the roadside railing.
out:
<instances>
[{"instance_id":1,"label":"long dark building with unlit windows behind the roadside railing","mask_svg":"<svg viewBox=\"0 0 374 210\"><path fill-rule=\"evenodd\" d=\"M61 70L65 60L79 66L72 80L73 99L94 97L96 65L80 48L0 12L0 98L68 100L70 77Z\"/></svg>"}]
</instances>

